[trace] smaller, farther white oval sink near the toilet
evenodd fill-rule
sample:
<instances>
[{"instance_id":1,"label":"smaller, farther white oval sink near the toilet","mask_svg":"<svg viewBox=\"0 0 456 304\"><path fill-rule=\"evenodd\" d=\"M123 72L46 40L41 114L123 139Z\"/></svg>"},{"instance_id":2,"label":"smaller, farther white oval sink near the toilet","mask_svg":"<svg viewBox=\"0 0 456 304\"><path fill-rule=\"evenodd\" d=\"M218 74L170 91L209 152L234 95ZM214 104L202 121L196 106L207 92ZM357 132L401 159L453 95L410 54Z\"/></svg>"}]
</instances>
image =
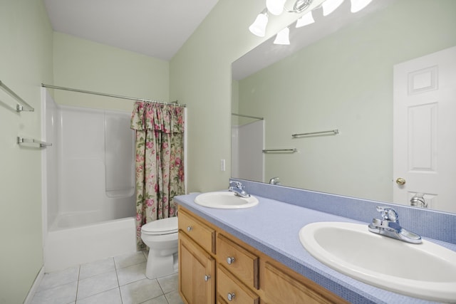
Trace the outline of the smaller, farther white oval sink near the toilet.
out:
<instances>
[{"instance_id":1,"label":"smaller, farther white oval sink near the toilet","mask_svg":"<svg viewBox=\"0 0 456 304\"><path fill-rule=\"evenodd\" d=\"M258 204L255 196L240 197L234 192L207 192L199 194L195 198L195 203L200 206L217 209L240 209L250 208Z\"/></svg>"}]
</instances>

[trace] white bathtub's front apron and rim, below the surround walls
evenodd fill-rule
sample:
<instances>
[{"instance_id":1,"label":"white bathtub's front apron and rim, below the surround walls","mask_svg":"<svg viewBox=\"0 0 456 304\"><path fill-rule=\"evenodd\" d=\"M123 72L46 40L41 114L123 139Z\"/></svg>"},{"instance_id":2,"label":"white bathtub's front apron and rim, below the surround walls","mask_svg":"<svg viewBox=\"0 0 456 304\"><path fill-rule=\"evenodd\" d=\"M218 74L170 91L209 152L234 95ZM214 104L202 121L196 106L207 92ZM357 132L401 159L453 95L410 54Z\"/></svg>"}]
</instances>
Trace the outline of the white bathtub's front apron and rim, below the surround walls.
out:
<instances>
[{"instance_id":1,"label":"white bathtub's front apron and rim, below the surround walls","mask_svg":"<svg viewBox=\"0 0 456 304\"><path fill-rule=\"evenodd\" d=\"M93 214L86 214L88 218ZM58 223L68 224L84 214L66 214ZM61 227L63 228L63 227ZM76 228L48 231L44 245L44 270L58 271L81 263L97 261L110 256L120 256L136 251L135 218L103 221Z\"/></svg>"}]
</instances>

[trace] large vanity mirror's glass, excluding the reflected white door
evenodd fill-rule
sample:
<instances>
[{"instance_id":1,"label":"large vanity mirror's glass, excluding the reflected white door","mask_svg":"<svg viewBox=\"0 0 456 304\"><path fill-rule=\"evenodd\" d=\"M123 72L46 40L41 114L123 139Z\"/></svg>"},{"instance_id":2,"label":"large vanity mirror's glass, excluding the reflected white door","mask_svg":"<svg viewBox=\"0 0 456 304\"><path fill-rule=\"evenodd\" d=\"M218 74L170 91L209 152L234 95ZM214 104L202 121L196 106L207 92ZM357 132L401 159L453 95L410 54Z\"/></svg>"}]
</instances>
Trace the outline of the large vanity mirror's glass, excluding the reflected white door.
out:
<instances>
[{"instance_id":1,"label":"large vanity mirror's glass, excluding the reflected white door","mask_svg":"<svg viewBox=\"0 0 456 304\"><path fill-rule=\"evenodd\" d=\"M290 46L273 37L239 58L232 112L249 117L233 115L232 130L255 129L256 145L284 151L263 153L233 132L232 177L393 202L393 65L456 46L455 10L451 0L376 0L351 14L346 0L291 24ZM338 134L291 137L327 130ZM246 176L251 165L261 169Z\"/></svg>"}]
</instances>

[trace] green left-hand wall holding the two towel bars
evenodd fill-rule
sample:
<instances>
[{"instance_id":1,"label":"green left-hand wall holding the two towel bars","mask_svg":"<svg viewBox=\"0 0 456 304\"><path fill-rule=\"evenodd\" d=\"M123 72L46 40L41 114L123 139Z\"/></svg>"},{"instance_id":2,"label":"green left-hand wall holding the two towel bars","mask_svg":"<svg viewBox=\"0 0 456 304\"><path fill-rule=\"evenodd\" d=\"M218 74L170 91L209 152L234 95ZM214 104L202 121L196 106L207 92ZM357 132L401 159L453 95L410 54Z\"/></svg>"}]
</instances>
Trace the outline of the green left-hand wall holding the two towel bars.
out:
<instances>
[{"instance_id":1,"label":"green left-hand wall holding the two towel bars","mask_svg":"<svg viewBox=\"0 0 456 304\"><path fill-rule=\"evenodd\" d=\"M0 0L0 80L35 112L0 98L0 303L23 303L43 266L41 150L16 136L41 138L41 82L52 83L52 28L42 1Z\"/></svg>"}]
</instances>

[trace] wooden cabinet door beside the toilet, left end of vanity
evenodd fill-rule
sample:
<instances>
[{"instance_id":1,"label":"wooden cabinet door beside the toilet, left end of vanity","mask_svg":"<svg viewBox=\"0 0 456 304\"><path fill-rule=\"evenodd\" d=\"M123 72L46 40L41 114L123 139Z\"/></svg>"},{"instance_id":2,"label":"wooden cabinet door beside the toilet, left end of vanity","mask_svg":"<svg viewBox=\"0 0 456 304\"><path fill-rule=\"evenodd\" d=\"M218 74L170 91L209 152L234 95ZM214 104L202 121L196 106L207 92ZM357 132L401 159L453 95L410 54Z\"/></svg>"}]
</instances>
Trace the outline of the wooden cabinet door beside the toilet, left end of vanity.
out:
<instances>
[{"instance_id":1,"label":"wooden cabinet door beside the toilet, left end of vanity","mask_svg":"<svg viewBox=\"0 0 456 304\"><path fill-rule=\"evenodd\" d=\"M179 293L187 304L215 303L215 260L181 231Z\"/></svg>"}]
</instances>

